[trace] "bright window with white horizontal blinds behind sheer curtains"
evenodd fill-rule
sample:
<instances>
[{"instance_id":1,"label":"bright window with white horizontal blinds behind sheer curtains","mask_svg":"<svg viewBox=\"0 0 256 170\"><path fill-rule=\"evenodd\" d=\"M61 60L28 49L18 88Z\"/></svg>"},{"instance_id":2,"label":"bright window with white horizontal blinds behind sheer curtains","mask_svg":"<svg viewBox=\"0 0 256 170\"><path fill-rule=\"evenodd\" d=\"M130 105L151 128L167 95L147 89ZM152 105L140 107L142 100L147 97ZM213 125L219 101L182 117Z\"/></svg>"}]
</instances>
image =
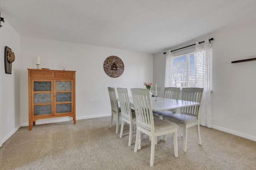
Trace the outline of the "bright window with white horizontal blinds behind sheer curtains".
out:
<instances>
[{"instance_id":1,"label":"bright window with white horizontal blinds behind sheer curtains","mask_svg":"<svg viewBox=\"0 0 256 170\"><path fill-rule=\"evenodd\" d=\"M207 51L172 55L166 62L169 62L167 65L170 67L167 69L167 86L204 87L212 90L212 47Z\"/></svg>"}]
</instances>

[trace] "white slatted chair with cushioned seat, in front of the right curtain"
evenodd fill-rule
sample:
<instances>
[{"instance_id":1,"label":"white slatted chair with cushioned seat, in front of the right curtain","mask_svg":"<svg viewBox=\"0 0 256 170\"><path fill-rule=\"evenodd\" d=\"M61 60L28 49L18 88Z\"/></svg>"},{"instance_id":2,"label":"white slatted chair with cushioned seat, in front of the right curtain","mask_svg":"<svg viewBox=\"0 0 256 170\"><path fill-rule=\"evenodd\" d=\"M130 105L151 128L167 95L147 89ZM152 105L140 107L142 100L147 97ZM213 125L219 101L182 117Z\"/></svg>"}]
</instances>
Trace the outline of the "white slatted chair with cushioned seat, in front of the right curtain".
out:
<instances>
[{"instance_id":1,"label":"white slatted chair with cushioned seat, in front of the right curtain","mask_svg":"<svg viewBox=\"0 0 256 170\"><path fill-rule=\"evenodd\" d=\"M192 102L202 102L204 88L182 88L181 100L192 101ZM180 113L169 114L164 116L164 120L176 123L182 127L181 135L183 133L183 150L187 151L187 138L188 138L188 128L192 126L197 126L198 143L201 143L200 135L200 105L183 107L180 109Z\"/></svg>"}]
</instances>

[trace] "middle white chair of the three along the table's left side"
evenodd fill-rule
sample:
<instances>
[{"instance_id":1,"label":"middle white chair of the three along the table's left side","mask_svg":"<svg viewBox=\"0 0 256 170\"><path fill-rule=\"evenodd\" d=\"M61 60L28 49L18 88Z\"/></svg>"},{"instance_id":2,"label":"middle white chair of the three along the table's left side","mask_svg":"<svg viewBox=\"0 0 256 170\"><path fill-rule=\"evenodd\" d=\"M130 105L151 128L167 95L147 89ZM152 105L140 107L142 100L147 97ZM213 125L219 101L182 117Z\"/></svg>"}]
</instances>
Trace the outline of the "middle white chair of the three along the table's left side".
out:
<instances>
[{"instance_id":1,"label":"middle white chair of the three along the table's left side","mask_svg":"<svg viewBox=\"0 0 256 170\"><path fill-rule=\"evenodd\" d=\"M122 138L122 135L123 135L124 122L130 124L128 146L131 146L132 145L132 128L134 127L134 125L136 125L135 111L132 112L127 88L116 88L116 90L117 90L118 100L121 107L120 138Z\"/></svg>"}]
</instances>

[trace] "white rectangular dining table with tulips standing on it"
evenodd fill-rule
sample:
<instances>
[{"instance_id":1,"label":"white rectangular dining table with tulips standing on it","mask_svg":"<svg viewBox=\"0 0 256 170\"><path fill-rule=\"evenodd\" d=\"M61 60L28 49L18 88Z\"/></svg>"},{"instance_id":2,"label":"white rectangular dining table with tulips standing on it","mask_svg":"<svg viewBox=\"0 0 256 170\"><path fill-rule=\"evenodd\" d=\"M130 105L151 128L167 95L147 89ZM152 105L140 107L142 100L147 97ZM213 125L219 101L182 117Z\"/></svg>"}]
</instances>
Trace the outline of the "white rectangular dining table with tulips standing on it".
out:
<instances>
[{"instance_id":1,"label":"white rectangular dining table with tulips standing on it","mask_svg":"<svg viewBox=\"0 0 256 170\"><path fill-rule=\"evenodd\" d=\"M130 100L131 107L134 108L133 98L129 97L129 100ZM201 103L198 103L198 102L168 99L168 98L158 98L158 97L150 97L150 102L151 102L152 111L165 111L165 110L172 110L172 109L179 109L183 107L201 105ZM141 143L141 140L139 140L138 149L141 149L140 143Z\"/></svg>"}]
</instances>

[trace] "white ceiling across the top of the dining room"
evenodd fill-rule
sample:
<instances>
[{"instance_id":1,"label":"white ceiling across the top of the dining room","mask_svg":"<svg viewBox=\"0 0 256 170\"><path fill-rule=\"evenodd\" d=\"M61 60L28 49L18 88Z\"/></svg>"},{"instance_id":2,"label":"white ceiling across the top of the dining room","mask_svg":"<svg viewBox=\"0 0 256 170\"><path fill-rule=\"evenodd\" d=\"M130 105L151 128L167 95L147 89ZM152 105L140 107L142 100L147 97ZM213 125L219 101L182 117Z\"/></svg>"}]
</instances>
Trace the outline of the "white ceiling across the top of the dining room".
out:
<instances>
[{"instance_id":1,"label":"white ceiling across the top of the dining room","mask_svg":"<svg viewBox=\"0 0 256 170\"><path fill-rule=\"evenodd\" d=\"M0 12L20 35L154 54L255 20L256 0L0 0Z\"/></svg>"}]
</instances>

